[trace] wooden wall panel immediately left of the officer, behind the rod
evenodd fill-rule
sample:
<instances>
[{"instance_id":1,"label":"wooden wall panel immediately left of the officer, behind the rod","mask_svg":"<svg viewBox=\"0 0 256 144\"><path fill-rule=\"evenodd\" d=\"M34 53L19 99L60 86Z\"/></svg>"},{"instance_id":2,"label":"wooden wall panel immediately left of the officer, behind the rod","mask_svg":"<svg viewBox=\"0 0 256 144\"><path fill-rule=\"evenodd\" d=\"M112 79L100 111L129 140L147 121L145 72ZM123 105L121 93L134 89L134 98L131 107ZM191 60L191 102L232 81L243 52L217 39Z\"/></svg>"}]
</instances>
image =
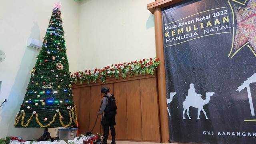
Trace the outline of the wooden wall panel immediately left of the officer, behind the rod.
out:
<instances>
[{"instance_id":1,"label":"wooden wall panel immediately left of the officer, behind the rod","mask_svg":"<svg viewBox=\"0 0 256 144\"><path fill-rule=\"evenodd\" d=\"M89 126L89 131L92 130L96 118L97 118L97 114L100 108L100 103L101 103L101 86L91 86L91 95L90 95L90 126ZM86 111L86 110L85 110ZM99 116L100 117L100 116ZM100 132L100 120L97 120L97 123L94 127L94 130L92 131L92 133L98 133Z\"/></svg>"}]
</instances>

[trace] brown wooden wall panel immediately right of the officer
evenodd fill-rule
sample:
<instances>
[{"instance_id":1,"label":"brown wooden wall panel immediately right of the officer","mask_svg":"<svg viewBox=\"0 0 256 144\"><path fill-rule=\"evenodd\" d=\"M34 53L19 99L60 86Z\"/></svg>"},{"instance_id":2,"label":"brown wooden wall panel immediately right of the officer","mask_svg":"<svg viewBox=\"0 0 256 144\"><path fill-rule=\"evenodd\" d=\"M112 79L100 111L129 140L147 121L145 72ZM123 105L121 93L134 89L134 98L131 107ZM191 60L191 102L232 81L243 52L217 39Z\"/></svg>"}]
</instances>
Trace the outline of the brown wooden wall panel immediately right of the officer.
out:
<instances>
[{"instance_id":1,"label":"brown wooden wall panel immediately right of the officer","mask_svg":"<svg viewBox=\"0 0 256 144\"><path fill-rule=\"evenodd\" d=\"M126 111L126 82L114 83L114 96L116 98L116 139L127 139L127 111Z\"/></svg>"}]
</instances>

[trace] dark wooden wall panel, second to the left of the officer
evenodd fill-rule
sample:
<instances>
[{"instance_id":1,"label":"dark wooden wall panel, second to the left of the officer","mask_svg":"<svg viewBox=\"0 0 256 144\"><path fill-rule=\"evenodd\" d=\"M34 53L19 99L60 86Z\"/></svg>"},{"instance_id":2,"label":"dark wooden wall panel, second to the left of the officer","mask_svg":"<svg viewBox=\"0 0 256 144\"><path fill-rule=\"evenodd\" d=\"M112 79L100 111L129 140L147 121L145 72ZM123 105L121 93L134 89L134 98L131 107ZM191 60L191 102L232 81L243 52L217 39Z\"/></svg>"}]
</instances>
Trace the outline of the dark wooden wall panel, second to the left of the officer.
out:
<instances>
[{"instance_id":1,"label":"dark wooden wall panel, second to the left of the officer","mask_svg":"<svg viewBox=\"0 0 256 144\"><path fill-rule=\"evenodd\" d=\"M78 121L78 132L84 134L89 131L90 116L90 87L83 87L80 91L80 110Z\"/></svg>"}]
</instances>

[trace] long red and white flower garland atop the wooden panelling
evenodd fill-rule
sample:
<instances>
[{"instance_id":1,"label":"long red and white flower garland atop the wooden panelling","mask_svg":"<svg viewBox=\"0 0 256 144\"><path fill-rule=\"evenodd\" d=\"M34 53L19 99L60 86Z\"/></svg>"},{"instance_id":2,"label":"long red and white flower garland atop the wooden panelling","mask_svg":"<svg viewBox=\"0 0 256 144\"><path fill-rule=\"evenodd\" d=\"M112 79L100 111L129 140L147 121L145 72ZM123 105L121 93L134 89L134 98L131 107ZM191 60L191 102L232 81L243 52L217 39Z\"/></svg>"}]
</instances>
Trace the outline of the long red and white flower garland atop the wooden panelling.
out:
<instances>
[{"instance_id":1,"label":"long red and white flower garland atop the wooden panelling","mask_svg":"<svg viewBox=\"0 0 256 144\"><path fill-rule=\"evenodd\" d=\"M126 75L130 72L130 75L136 74L154 74L154 70L159 66L160 61L159 58L149 58L143 60L135 60L132 62L124 62L123 64L112 64L111 66L106 66L104 68L94 70L85 70L84 72L75 72L72 74L71 80L76 83L77 80L80 80L80 84L82 82L93 81L96 83L96 80L101 80L101 82L106 82L106 77L114 76L116 79L119 79L119 76L126 78Z\"/></svg>"}]
</instances>

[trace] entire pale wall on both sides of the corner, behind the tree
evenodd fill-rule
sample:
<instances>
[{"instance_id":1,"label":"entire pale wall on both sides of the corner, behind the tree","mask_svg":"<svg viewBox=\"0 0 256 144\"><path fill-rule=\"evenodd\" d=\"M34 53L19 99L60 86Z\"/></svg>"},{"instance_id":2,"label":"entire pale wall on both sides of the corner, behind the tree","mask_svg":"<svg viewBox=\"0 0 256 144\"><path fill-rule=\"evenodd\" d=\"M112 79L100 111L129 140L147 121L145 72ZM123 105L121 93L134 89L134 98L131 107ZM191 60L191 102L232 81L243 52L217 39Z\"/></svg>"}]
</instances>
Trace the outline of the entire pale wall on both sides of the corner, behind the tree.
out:
<instances>
[{"instance_id":1,"label":"entire pale wall on both sides of the corner, behind the tree","mask_svg":"<svg viewBox=\"0 0 256 144\"><path fill-rule=\"evenodd\" d=\"M32 140L43 134L43 128L14 128L14 119L39 54L26 47L27 39L42 40L55 2L0 0L0 49L6 53L0 63L0 104L7 99L0 108L0 138L12 135ZM156 56L154 17L147 10L154 0L58 2L62 4L70 72ZM54 128L49 132L56 136Z\"/></svg>"}]
</instances>

